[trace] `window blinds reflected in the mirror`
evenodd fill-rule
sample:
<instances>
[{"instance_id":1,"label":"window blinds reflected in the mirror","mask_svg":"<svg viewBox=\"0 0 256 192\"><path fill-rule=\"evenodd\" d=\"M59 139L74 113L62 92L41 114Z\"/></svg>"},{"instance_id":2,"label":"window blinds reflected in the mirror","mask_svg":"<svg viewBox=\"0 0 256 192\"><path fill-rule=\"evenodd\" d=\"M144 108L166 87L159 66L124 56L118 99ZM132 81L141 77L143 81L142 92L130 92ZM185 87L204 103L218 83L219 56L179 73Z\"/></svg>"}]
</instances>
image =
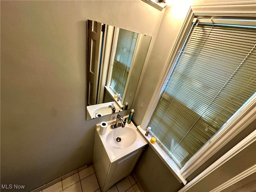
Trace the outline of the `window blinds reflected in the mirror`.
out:
<instances>
[{"instance_id":1,"label":"window blinds reflected in the mirror","mask_svg":"<svg viewBox=\"0 0 256 192\"><path fill-rule=\"evenodd\" d=\"M110 88L116 94L120 94L121 99L124 94L137 39L138 33L119 29Z\"/></svg>"}]
</instances>

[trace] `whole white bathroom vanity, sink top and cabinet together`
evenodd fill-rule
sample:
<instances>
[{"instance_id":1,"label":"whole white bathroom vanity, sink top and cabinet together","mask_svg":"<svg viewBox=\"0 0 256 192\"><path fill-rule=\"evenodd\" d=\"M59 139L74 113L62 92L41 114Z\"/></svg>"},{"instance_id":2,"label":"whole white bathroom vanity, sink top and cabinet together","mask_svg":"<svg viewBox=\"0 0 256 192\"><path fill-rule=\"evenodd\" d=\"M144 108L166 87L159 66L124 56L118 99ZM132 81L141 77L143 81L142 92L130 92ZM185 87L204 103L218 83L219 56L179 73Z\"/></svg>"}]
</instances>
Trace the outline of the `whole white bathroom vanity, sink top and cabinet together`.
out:
<instances>
[{"instance_id":1,"label":"whole white bathroom vanity, sink top and cabinet together","mask_svg":"<svg viewBox=\"0 0 256 192\"><path fill-rule=\"evenodd\" d=\"M128 116L122 119L125 118ZM96 125L93 166L102 192L131 174L148 144L132 122L112 129L115 123L116 120L111 120Z\"/></svg>"}]
</instances>

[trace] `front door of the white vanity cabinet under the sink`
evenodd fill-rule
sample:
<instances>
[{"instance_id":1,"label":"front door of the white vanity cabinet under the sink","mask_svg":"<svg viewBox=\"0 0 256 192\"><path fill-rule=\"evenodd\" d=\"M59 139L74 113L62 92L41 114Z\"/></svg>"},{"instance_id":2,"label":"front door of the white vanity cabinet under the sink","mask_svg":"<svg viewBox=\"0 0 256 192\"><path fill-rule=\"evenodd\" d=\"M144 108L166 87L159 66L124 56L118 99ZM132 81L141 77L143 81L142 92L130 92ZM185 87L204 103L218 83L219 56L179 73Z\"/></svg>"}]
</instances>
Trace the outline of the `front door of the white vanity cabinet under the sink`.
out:
<instances>
[{"instance_id":1,"label":"front door of the white vanity cabinet under the sink","mask_svg":"<svg viewBox=\"0 0 256 192\"><path fill-rule=\"evenodd\" d=\"M110 165L104 191L132 172L141 152L142 149L136 150Z\"/></svg>"}]
</instances>

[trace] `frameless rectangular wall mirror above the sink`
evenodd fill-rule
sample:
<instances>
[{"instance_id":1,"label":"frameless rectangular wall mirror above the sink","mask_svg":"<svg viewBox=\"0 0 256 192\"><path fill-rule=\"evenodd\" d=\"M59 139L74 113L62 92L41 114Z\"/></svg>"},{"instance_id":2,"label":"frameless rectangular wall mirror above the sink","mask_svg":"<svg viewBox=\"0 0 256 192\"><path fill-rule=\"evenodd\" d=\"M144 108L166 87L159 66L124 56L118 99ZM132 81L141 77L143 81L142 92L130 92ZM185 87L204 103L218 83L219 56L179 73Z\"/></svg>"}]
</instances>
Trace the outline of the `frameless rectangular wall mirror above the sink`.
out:
<instances>
[{"instance_id":1,"label":"frameless rectangular wall mirror above the sink","mask_svg":"<svg viewBox=\"0 0 256 192\"><path fill-rule=\"evenodd\" d=\"M87 22L86 119L132 106L151 37Z\"/></svg>"}]
</instances>

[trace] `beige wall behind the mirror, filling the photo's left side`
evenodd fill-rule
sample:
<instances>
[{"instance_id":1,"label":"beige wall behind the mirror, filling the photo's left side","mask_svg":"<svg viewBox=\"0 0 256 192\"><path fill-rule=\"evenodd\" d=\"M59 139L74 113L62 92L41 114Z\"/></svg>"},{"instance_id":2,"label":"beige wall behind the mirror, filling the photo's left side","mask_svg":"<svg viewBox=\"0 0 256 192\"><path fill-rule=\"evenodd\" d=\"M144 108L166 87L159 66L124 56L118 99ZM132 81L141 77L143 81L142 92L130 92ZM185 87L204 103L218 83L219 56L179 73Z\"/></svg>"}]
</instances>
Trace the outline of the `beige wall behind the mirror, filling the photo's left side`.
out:
<instances>
[{"instance_id":1,"label":"beige wall behind the mirror, filling the photo's left side","mask_svg":"<svg viewBox=\"0 0 256 192\"><path fill-rule=\"evenodd\" d=\"M85 117L86 20L154 39L164 12L140 0L0 3L1 184L30 191L92 163L94 125L107 120Z\"/></svg>"}]
</instances>

